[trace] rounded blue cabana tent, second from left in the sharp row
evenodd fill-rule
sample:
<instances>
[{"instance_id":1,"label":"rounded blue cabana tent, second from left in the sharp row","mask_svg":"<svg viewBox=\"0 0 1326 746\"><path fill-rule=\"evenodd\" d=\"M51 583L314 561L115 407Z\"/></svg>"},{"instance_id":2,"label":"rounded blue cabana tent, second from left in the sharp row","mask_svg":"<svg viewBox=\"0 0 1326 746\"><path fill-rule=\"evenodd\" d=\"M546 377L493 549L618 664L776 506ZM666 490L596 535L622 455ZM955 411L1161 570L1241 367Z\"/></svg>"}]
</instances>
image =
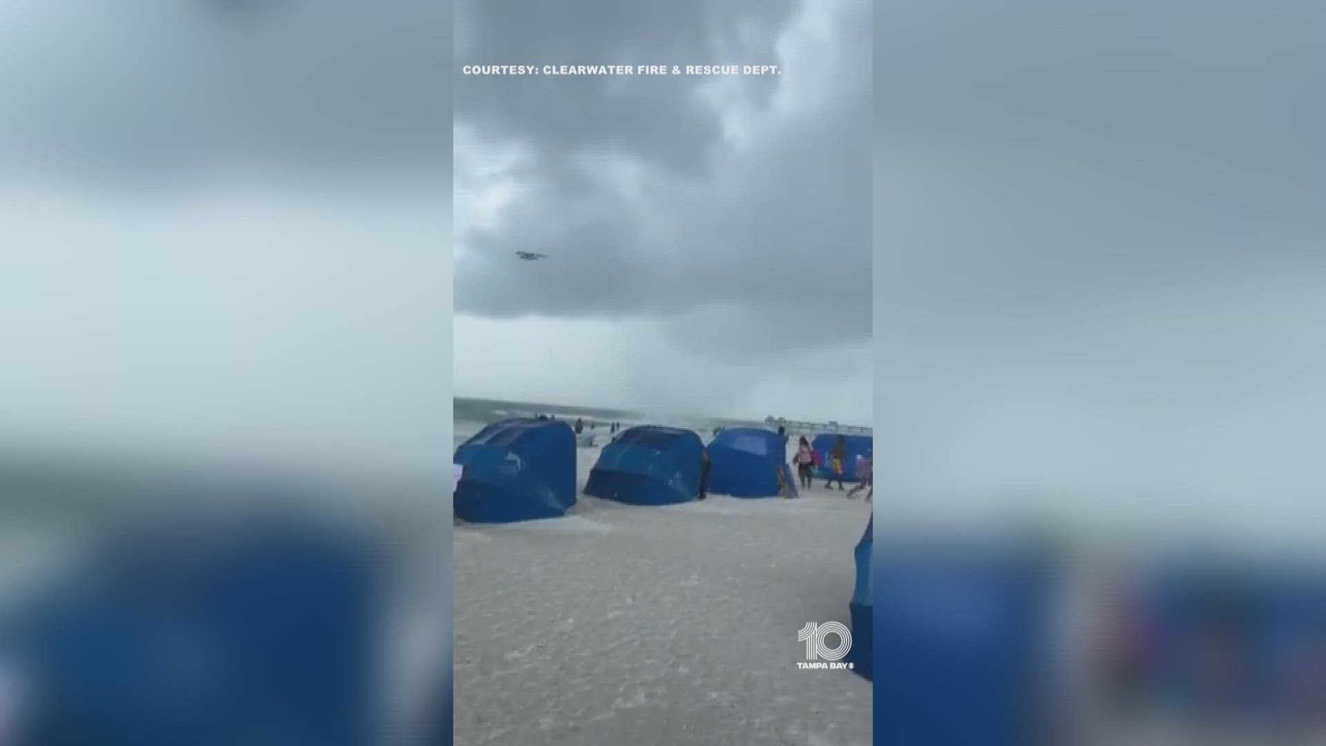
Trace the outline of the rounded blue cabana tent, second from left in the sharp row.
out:
<instances>
[{"instance_id":1,"label":"rounded blue cabana tent, second from left in the sharp row","mask_svg":"<svg viewBox=\"0 0 1326 746\"><path fill-rule=\"evenodd\" d=\"M598 457L585 494L639 506L684 503L700 491L700 451L691 430L639 425Z\"/></svg>"}]
</instances>

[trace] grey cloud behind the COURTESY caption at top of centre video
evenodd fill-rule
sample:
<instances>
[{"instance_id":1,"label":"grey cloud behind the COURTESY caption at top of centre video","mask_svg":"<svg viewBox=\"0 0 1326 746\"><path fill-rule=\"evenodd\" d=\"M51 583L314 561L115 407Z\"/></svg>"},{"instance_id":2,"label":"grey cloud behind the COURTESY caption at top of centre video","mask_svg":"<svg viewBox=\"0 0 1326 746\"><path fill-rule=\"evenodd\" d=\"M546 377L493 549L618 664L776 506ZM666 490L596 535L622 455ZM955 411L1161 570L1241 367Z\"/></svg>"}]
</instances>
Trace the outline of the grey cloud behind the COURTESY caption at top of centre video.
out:
<instances>
[{"instance_id":1,"label":"grey cloud behind the COURTESY caption at top of centre video","mask_svg":"<svg viewBox=\"0 0 1326 746\"><path fill-rule=\"evenodd\" d=\"M793 0L619 3L520 0L456 3L468 64L762 64ZM455 81L456 112L495 138L558 153L614 151L691 175L720 138L715 112L695 96L696 78L504 76ZM766 101L773 80L747 81Z\"/></svg>"}]
</instances>

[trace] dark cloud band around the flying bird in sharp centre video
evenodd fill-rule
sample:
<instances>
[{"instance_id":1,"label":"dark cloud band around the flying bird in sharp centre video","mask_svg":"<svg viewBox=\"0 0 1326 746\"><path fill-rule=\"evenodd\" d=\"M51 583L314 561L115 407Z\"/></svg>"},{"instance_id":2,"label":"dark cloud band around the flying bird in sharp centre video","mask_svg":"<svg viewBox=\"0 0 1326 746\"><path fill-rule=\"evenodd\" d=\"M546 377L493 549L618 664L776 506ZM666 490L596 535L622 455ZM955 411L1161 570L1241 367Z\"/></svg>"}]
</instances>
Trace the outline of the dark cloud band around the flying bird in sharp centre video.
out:
<instances>
[{"instance_id":1,"label":"dark cloud band around the flying bird in sharp centre video","mask_svg":"<svg viewBox=\"0 0 1326 746\"><path fill-rule=\"evenodd\" d=\"M841 117L798 119L776 157L733 158L732 171L721 169L707 185L667 190L655 203L663 215L640 214L611 183L577 187L549 173L497 232L467 239L473 256L459 268L472 273L457 303L489 315L593 316L678 313L707 303L774 311L789 295L841 296L855 300L850 331L869 331L865 115L863 102ZM668 230L651 235L651 222ZM513 265L512 251L552 259Z\"/></svg>"}]
</instances>

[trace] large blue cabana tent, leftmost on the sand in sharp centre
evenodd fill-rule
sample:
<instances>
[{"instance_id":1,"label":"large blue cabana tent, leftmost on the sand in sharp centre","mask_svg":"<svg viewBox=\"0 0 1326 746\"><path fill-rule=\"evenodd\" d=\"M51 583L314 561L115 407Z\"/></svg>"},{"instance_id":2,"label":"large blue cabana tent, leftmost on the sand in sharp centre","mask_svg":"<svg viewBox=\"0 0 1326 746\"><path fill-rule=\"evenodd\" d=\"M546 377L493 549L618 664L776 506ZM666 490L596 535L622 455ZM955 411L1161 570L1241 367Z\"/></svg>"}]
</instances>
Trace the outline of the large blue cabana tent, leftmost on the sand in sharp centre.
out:
<instances>
[{"instance_id":1,"label":"large blue cabana tent, leftmost on the sand in sharp centre","mask_svg":"<svg viewBox=\"0 0 1326 746\"><path fill-rule=\"evenodd\" d=\"M575 433L552 419L505 419L456 449L455 512L473 523L565 515L575 504Z\"/></svg>"}]
</instances>

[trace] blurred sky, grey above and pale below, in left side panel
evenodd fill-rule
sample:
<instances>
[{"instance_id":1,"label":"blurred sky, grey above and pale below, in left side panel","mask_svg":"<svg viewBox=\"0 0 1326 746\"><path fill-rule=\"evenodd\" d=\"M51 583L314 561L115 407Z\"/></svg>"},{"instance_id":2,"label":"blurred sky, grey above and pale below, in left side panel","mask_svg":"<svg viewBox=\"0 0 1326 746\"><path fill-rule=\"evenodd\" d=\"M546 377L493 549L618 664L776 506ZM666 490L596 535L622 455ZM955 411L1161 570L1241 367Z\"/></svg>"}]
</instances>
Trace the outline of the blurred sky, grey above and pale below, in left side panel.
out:
<instances>
[{"instance_id":1,"label":"blurred sky, grey above and pale below, in left side panel","mask_svg":"<svg viewBox=\"0 0 1326 746\"><path fill-rule=\"evenodd\" d=\"M438 463L451 13L0 4L0 435Z\"/></svg>"}]
</instances>

